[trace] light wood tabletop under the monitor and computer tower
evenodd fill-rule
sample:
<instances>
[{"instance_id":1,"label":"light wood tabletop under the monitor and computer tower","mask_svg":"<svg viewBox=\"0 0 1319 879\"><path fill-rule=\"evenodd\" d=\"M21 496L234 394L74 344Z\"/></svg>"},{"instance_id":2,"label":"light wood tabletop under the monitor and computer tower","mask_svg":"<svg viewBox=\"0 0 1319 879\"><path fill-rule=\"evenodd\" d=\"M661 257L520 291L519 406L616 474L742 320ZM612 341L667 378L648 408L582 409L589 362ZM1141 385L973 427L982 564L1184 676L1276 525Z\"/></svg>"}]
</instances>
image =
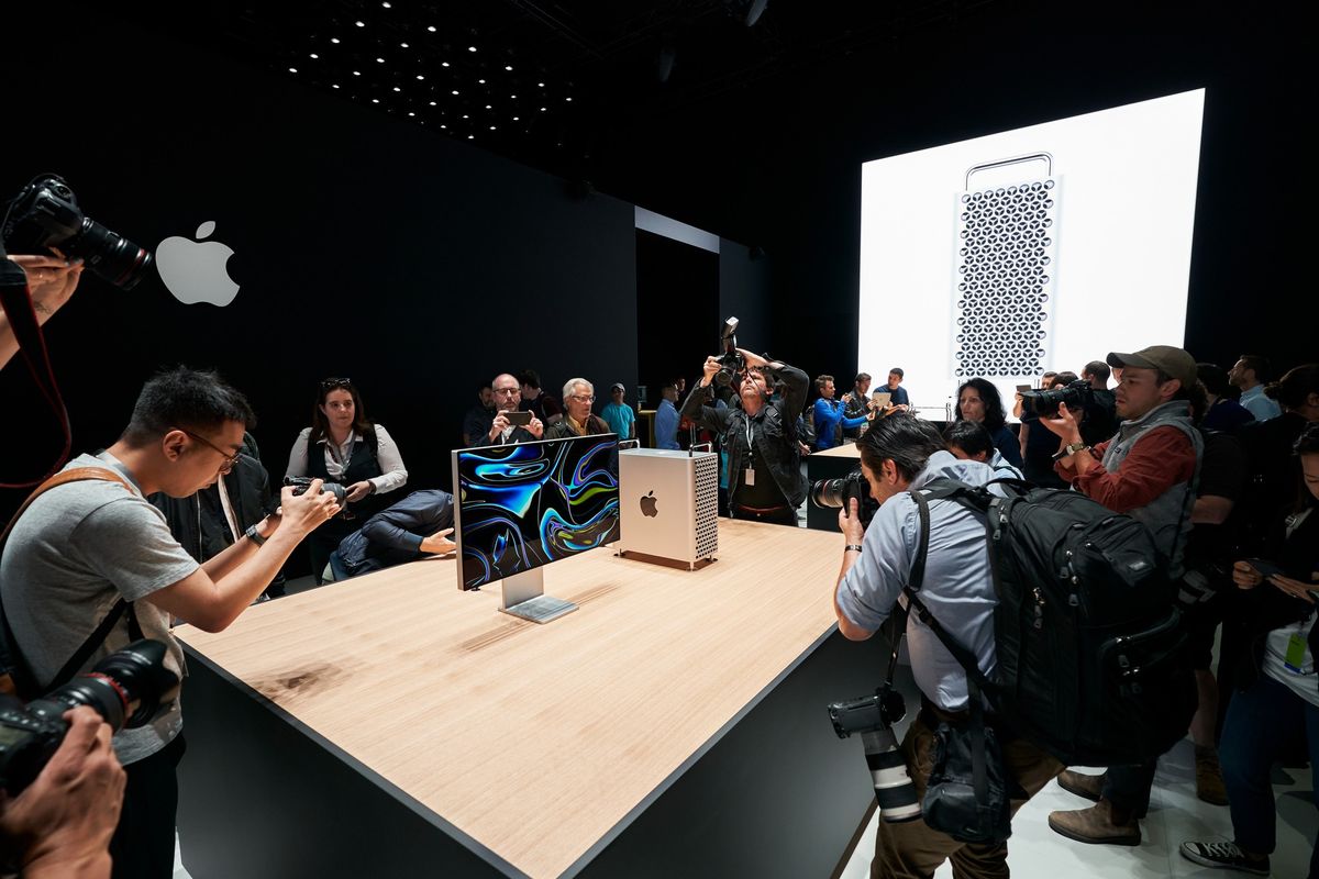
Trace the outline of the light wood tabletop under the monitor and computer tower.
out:
<instances>
[{"instance_id":1,"label":"light wood tabletop under the monitor and computer tower","mask_svg":"<svg viewBox=\"0 0 1319 879\"><path fill-rule=\"evenodd\" d=\"M694 572L609 550L547 567L546 594L579 610L543 626L429 559L177 634L520 870L557 876L835 623L842 535L719 525L719 560Z\"/></svg>"}]
</instances>

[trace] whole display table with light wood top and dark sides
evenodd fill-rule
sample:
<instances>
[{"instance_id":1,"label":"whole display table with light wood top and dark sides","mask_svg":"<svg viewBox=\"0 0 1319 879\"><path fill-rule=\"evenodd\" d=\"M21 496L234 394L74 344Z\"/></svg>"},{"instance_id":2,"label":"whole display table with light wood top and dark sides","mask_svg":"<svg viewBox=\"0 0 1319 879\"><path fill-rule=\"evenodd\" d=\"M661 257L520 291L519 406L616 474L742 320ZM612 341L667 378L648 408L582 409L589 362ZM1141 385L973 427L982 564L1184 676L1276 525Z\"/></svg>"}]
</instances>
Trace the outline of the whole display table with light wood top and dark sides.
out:
<instances>
[{"instance_id":1,"label":"whole display table with light wood top and dark sides","mask_svg":"<svg viewBox=\"0 0 1319 879\"><path fill-rule=\"evenodd\" d=\"M687 572L545 569L538 626L433 559L181 627L194 879L827 876L873 799L824 705L880 683L845 642L842 536L720 519Z\"/></svg>"}]
</instances>

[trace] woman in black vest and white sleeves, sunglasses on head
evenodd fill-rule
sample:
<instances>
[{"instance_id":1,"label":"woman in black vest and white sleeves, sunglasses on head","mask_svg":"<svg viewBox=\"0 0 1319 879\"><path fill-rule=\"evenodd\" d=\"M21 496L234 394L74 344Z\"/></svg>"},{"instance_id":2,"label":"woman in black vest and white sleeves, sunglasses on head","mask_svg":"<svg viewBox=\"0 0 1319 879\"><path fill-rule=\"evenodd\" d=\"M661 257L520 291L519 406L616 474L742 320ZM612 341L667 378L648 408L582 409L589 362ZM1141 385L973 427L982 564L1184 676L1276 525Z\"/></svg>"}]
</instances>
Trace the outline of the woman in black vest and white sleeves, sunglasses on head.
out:
<instances>
[{"instance_id":1,"label":"woman in black vest and white sleeves, sunglasses on head","mask_svg":"<svg viewBox=\"0 0 1319 879\"><path fill-rule=\"evenodd\" d=\"M307 535L311 573L319 586L339 542L389 506L392 492L408 482L398 447L384 424L367 420L361 394L348 378L327 378L305 427L289 452L286 476L339 482L348 494L343 513Z\"/></svg>"}]
</instances>

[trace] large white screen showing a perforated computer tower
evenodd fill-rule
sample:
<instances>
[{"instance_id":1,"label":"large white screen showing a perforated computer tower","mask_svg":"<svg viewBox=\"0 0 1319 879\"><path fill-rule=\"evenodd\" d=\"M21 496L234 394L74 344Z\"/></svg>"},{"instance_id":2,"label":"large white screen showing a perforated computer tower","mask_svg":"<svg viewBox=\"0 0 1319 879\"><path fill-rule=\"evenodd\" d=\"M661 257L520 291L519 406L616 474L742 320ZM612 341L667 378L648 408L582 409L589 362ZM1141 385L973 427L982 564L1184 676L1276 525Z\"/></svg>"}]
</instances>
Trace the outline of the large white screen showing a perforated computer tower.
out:
<instances>
[{"instance_id":1,"label":"large white screen showing a perforated computer tower","mask_svg":"<svg viewBox=\"0 0 1319 879\"><path fill-rule=\"evenodd\" d=\"M969 343L958 318L983 320L963 310L971 300L958 290L967 278L959 271L963 187L975 166L1031 154L1047 154L1051 169L1043 158L981 169L967 188L1046 177L1057 187L1042 269L1047 300L1038 312L1026 307L1043 314L1039 366L1080 373L1111 351L1182 345L1203 108L1204 90L1196 90L861 165L859 370L882 381L892 366L904 368L913 405L931 418L977 374L956 374L966 362L956 354L975 356L963 351ZM1026 381L1020 365L1016 358L1004 374L987 376L1009 407L1014 385Z\"/></svg>"}]
</instances>

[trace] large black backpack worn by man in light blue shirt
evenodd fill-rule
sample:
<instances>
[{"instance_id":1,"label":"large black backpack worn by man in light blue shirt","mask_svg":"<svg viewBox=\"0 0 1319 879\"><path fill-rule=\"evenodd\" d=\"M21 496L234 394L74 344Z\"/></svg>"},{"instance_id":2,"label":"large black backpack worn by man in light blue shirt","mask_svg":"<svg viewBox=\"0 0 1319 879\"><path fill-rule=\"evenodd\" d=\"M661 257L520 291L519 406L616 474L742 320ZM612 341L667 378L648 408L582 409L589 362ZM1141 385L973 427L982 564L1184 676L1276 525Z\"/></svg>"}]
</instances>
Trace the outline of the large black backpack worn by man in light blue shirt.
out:
<instances>
[{"instance_id":1,"label":"large black backpack worn by man in light blue shirt","mask_svg":"<svg viewBox=\"0 0 1319 879\"><path fill-rule=\"evenodd\" d=\"M1063 763L1157 758L1186 735L1196 689L1153 534L1078 492L1009 485L1008 498L946 478L911 492L923 532L933 499L985 517L998 597L993 679L909 592L911 609L1006 722Z\"/></svg>"}]
</instances>

